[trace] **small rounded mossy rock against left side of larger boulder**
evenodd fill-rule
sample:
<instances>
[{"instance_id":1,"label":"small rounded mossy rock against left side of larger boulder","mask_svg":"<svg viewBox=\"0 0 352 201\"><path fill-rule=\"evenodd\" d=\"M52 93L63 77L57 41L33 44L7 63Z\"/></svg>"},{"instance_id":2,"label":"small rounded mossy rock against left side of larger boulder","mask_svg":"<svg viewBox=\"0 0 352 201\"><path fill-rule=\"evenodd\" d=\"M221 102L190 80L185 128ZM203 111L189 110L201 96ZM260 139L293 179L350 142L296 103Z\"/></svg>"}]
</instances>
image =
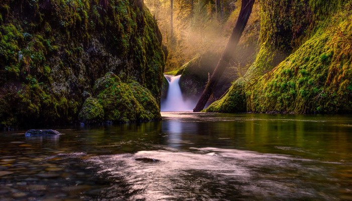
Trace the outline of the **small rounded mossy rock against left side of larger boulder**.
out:
<instances>
[{"instance_id":1,"label":"small rounded mossy rock against left side of larger boulder","mask_svg":"<svg viewBox=\"0 0 352 201\"><path fill-rule=\"evenodd\" d=\"M84 124L96 124L104 121L103 106L100 105L98 99L88 97L82 109L78 114L78 120Z\"/></svg>"}]
</instances>

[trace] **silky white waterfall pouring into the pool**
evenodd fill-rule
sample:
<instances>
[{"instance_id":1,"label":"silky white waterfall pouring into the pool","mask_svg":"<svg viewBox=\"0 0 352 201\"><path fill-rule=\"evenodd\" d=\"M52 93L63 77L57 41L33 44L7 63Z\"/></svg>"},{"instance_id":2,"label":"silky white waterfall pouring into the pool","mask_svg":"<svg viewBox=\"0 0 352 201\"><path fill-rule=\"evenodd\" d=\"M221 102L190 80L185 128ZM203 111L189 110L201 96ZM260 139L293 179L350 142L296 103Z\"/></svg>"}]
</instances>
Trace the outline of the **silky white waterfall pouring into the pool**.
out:
<instances>
[{"instance_id":1,"label":"silky white waterfall pouring into the pool","mask_svg":"<svg viewBox=\"0 0 352 201\"><path fill-rule=\"evenodd\" d=\"M161 104L162 112L172 111L192 111L194 106L192 102L184 100L182 97L181 88L179 85L180 77L172 75L164 75L168 81L167 96Z\"/></svg>"}]
</instances>

